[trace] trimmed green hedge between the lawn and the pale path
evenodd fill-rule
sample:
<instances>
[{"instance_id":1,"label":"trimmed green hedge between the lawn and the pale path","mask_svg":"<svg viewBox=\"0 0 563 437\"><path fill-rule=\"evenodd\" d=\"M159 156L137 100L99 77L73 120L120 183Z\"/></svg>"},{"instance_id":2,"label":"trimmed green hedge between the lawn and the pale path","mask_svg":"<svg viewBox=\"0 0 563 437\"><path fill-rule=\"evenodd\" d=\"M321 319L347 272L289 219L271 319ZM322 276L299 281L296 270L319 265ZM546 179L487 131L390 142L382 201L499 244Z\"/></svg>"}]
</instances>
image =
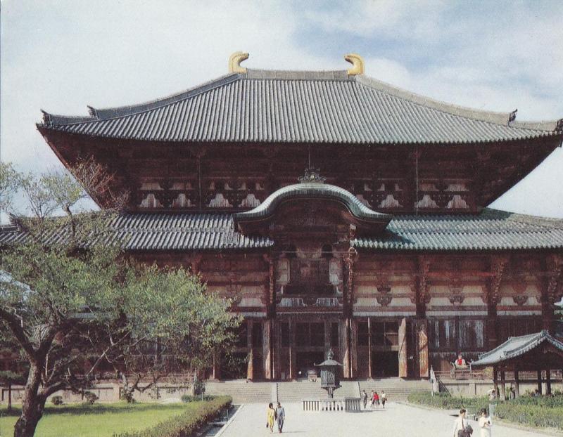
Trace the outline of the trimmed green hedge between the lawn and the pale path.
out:
<instances>
[{"instance_id":1,"label":"trimmed green hedge between the lawn and the pale path","mask_svg":"<svg viewBox=\"0 0 563 437\"><path fill-rule=\"evenodd\" d=\"M190 437L231 403L230 396L218 396L201 403L193 410L186 410L181 415L170 417L152 428L114 434L113 437Z\"/></svg>"}]
</instances>

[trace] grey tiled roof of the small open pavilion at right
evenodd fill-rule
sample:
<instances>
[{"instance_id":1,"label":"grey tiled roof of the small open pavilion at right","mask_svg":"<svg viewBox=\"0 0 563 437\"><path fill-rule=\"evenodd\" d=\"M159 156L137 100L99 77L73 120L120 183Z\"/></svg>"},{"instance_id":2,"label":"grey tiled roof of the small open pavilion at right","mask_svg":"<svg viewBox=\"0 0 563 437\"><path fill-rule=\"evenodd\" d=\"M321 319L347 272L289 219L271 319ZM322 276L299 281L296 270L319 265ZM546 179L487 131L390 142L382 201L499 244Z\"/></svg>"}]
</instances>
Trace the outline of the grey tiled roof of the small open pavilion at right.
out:
<instances>
[{"instance_id":1,"label":"grey tiled roof of the small open pavilion at right","mask_svg":"<svg viewBox=\"0 0 563 437\"><path fill-rule=\"evenodd\" d=\"M482 353L479 360L471 363L472 367L488 367L511 360L524 355L540 344L548 342L556 349L561 351L563 356L563 343L552 337L548 331L536 332L536 334L522 335L521 337L510 337L503 344L497 346L492 351Z\"/></svg>"}]
</instances>

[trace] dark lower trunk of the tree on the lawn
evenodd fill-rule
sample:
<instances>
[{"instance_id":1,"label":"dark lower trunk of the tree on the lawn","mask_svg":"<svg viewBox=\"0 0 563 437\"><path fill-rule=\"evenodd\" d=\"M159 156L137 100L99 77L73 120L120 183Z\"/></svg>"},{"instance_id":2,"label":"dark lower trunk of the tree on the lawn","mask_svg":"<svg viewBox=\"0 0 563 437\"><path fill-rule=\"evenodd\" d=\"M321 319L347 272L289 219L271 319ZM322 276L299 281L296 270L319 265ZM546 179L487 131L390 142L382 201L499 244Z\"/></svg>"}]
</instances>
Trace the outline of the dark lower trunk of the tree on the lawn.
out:
<instances>
[{"instance_id":1,"label":"dark lower trunk of the tree on the lawn","mask_svg":"<svg viewBox=\"0 0 563 437\"><path fill-rule=\"evenodd\" d=\"M14 437L32 437L35 433L37 423L43 416L46 401L46 397L39 396L40 383L41 370L37 365L32 365L27 376L27 384L25 384L22 415L14 426Z\"/></svg>"}]
</instances>

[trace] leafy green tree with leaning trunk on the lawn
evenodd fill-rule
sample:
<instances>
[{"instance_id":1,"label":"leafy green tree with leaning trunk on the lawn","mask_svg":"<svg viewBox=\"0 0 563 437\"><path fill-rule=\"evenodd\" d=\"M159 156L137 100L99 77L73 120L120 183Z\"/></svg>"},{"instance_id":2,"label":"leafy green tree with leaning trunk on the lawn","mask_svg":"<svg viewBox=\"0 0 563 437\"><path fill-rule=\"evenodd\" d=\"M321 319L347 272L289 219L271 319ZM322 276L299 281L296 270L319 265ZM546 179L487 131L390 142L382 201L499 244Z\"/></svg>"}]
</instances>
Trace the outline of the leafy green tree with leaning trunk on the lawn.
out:
<instances>
[{"instance_id":1,"label":"leafy green tree with leaning trunk on the lawn","mask_svg":"<svg viewBox=\"0 0 563 437\"><path fill-rule=\"evenodd\" d=\"M229 343L240 322L229 301L206 294L182 268L139 265L118 242L106 243L117 209L76 214L87 193L103 193L116 207L124 202L97 164L18 175L11 184L32 213L14 218L21 237L0 254L8 273L0 278L0 330L29 365L14 436L34 434L56 391L87 389L108 370L157 381L172 368L167 358L203 365L213 348Z\"/></svg>"}]
</instances>

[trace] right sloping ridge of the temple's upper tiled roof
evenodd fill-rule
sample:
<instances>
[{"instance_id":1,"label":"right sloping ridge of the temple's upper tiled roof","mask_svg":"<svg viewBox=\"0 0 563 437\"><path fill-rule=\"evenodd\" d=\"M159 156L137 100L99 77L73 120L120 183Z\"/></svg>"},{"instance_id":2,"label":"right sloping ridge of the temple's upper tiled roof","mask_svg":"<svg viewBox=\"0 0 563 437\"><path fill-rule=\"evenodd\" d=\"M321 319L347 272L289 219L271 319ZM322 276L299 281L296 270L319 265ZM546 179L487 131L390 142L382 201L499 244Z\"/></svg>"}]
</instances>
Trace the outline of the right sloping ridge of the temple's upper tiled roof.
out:
<instances>
[{"instance_id":1,"label":"right sloping ridge of the temple's upper tiled roof","mask_svg":"<svg viewBox=\"0 0 563 437\"><path fill-rule=\"evenodd\" d=\"M414 105L419 105L422 107L429 107L433 110L441 111L445 114L455 115L457 117L462 117L466 119L472 119L483 123L490 123L505 127L510 127L514 129L523 129L529 131L555 131L557 126L557 120L549 120L543 122L511 122L510 117L511 112L498 112L498 111L486 111L478 110L469 106L456 105L455 103L448 103L444 100L438 100L436 98L431 98L429 96L424 96L424 94L415 93L408 91L407 89L400 88L387 82L380 81L373 77L366 76L365 74L360 74L356 76L355 79L359 84L367 86L371 89L376 89L387 93L396 98L407 100ZM515 126L519 124L520 126ZM536 126L547 126L551 129L533 129L530 125Z\"/></svg>"}]
</instances>

